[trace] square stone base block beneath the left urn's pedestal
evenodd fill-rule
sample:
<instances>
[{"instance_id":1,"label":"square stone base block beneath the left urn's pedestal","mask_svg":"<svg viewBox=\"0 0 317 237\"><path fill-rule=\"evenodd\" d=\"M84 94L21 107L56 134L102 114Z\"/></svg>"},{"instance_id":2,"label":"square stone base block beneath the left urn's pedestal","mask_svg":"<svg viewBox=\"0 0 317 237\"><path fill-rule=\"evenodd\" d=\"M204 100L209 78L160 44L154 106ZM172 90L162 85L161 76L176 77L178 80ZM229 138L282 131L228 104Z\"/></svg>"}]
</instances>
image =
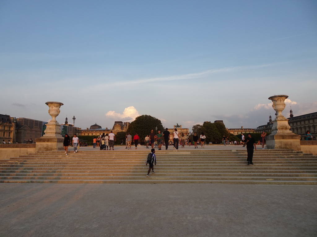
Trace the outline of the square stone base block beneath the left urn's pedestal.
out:
<instances>
[{"instance_id":1,"label":"square stone base block beneath the left urn's pedestal","mask_svg":"<svg viewBox=\"0 0 317 237\"><path fill-rule=\"evenodd\" d=\"M63 150L63 137L40 137L35 139L36 152L38 151L61 151Z\"/></svg>"}]
</instances>

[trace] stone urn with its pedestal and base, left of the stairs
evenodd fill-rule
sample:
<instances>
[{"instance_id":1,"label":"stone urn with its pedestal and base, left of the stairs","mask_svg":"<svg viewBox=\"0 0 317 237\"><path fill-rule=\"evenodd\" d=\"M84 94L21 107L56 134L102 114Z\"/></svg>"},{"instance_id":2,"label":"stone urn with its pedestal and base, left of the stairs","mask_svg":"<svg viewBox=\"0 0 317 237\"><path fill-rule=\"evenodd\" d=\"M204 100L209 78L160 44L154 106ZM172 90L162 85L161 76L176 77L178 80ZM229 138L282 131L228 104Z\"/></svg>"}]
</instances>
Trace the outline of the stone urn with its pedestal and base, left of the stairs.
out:
<instances>
[{"instance_id":1,"label":"stone urn with its pedestal and base, left of the stairs","mask_svg":"<svg viewBox=\"0 0 317 237\"><path fill-rule=\"evenodd\" d=\"M61 125L56 121L56 117L60 113L61 102L49 101L46 102L49 106L49 115L52 117L51 121L46 124L43 137L37 138L36 151L58 151L63 150L64 138L61 136Z\"/></svg>"}]
</instances>

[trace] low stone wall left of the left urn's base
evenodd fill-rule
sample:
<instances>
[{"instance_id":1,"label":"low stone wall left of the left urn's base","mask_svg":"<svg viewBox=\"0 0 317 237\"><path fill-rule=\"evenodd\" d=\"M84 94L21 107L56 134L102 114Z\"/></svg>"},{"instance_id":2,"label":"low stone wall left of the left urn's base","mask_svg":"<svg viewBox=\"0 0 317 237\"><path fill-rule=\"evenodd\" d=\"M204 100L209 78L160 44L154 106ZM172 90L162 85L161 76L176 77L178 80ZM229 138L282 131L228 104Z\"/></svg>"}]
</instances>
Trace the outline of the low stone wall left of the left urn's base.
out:
<instances>
[{"instance_id":1,"label":"low stone wall left of the left urn's base","mask_svg":"<svg viewBox=\"0 0 317 237\"><path fill-rule=\"evenodd\" d=\"M35 153L36 144L0 144L0 160Z\"/></svg>"}]
</instances>

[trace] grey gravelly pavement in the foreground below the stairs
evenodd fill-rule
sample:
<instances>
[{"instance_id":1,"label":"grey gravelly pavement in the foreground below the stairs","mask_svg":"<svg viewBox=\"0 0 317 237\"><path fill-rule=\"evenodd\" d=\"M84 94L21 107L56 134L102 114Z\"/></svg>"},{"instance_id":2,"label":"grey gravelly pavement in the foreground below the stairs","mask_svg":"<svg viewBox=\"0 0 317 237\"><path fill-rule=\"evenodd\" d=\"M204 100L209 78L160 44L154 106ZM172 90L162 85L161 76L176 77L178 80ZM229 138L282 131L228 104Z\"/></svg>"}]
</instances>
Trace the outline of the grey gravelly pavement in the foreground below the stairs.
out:
<instances>
[{"instance_id":1,"label":"grey gravelly pavement in the foreground below the stairs","mask_svg":"<svg viewBox=\"0 0 317 237\"><path fill-rule=\"evenodd\" d=\"M1 184L0 236L317 236L314 185Z\"/></svg>"}]
</instances>

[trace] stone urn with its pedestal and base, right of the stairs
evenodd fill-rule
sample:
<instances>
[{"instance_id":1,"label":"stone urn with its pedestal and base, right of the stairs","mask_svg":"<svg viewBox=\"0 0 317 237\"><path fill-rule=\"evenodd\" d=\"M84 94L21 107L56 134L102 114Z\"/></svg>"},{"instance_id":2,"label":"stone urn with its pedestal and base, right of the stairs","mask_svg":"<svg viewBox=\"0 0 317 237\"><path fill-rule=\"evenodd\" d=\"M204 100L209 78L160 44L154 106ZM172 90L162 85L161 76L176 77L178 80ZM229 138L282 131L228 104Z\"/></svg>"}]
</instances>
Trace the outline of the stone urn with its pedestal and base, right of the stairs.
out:
<instances>
[{"instance_id":1,"label":"stone urn with its pedestal and base, right of the stairs","mask_svg":"<svg viewBox=\"0 0 317 237\"><path fill-rule=\"evenodd\" d=\"M266 137L266 146L268 149L293 149L301 150L300 135L294 134L288 125L288 119L282 115L285 109L285 100L288 95L273 95L269 97L272 100L272 107L276 111L276 118L273 120L272 133Z\"/></svg>"}]
</instances>

